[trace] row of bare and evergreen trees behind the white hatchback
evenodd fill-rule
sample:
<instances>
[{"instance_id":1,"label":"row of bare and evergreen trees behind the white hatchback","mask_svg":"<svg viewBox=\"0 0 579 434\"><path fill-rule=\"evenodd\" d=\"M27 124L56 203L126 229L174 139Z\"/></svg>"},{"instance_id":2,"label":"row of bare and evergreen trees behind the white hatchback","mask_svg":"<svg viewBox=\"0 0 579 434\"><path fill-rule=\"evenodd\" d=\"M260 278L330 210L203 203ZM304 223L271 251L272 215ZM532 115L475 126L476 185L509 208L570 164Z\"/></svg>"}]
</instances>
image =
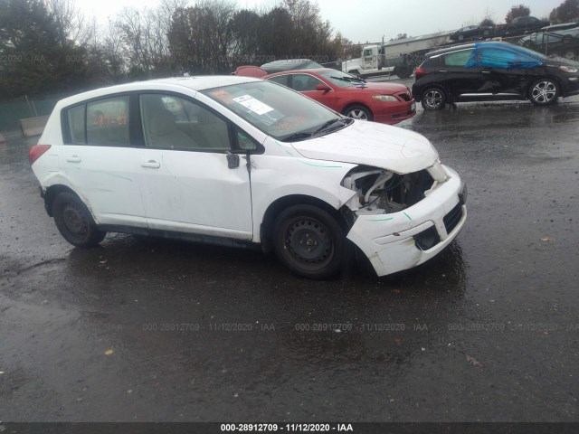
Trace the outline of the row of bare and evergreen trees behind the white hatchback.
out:
<instances>
[{"instance_id":1,"label":"row of bare and evergreen trees behind the white hatchback","mask_svg":"<svg viewBox=\"0 0 579 434\"><path fill-rule=\"evenodd\" d=\"M310 0L244 9L232 0L125 7L105 25L73 0L0 0L0 99L92 89L242 64L326 62L348 41Z\"/></svg>"}]
</instances>

